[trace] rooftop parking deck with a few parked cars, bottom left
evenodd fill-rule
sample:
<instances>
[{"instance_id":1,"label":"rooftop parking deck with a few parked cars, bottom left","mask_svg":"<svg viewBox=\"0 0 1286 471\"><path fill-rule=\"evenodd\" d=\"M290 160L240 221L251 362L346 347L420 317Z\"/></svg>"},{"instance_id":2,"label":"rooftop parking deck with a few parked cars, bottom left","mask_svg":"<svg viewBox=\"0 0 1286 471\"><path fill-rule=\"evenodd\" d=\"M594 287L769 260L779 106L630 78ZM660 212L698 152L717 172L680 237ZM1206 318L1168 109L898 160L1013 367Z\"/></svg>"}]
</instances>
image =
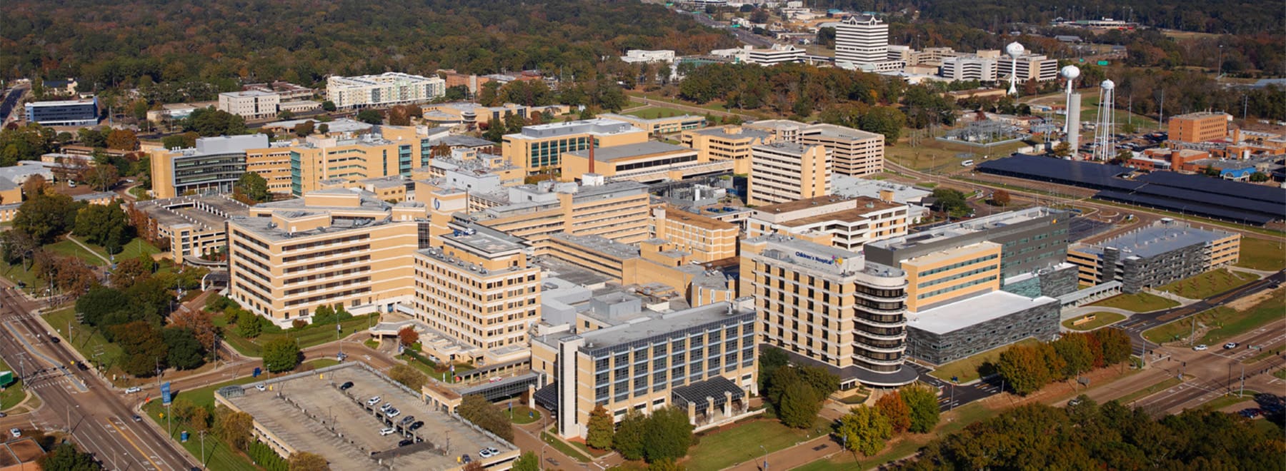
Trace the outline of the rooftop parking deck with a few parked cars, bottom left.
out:
<instances>
[{"instance_id":1,"label":"rooftop parking deck with a few parked cars, bottom left","mask_svg":"<svg viewBox=\"0 0 1286 471\"><path fill-rule=\"evenodd\" d=\"M222 388L215 400L249 413L255 436L282 457L310 452L336 470L446 471L467 461L508 468L520 454L513 444L433 409L422 394L363 363ZM495 454L482 458L482 449Z\"/></svg>"}]
</instances>

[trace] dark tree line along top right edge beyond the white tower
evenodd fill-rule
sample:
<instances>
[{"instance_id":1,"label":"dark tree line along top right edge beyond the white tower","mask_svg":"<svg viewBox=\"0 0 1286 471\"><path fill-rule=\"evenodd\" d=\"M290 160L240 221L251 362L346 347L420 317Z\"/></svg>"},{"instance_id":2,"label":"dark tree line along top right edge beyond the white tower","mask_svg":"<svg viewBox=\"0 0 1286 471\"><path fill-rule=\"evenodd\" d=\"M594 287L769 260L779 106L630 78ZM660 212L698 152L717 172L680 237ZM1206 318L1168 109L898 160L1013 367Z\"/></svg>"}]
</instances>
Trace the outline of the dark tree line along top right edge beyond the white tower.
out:
<instances>
[{"instance_id":1,"label":"dark tree line along top right edge beyond the white tower","mask_svg":"<svg viewBox=\"0 0 1286 471\"><path fill-rule=\"evenodd\" d=\"M856 12L919 12L919 19L948 21L998 31L1011 23L1042 24L1055 18L1133 19L1143 26L1206 33L1253 35L1286 31L1277 1L1251 0L814 0L814 8Z\"/></svg>"}]
</instances>

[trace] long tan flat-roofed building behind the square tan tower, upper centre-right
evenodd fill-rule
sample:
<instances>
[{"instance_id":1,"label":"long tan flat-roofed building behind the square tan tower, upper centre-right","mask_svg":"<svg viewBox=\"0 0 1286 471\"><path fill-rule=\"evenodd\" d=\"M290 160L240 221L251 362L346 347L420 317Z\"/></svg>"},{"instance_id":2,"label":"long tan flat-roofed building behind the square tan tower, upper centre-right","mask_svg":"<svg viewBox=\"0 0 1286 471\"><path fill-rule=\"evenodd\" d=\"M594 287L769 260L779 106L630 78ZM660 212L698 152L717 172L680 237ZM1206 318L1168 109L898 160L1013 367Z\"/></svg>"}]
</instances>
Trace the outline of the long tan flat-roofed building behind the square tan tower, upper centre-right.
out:
<instances>
[{"instance_id":1,"label":"long tan flat-roofed building behind the square tan tower, upper centre-right","mask_svg":"<svg viewBox=\"0 0 1286 471\"><path fill-rule=\"evenodd\" d=\"M883 135L845 126L805 124L790 119L764 119L745 126L772 132L782 141L824 146L831 153L833 173L860 177L883 172Z\"/></svg>"}]
</instances>

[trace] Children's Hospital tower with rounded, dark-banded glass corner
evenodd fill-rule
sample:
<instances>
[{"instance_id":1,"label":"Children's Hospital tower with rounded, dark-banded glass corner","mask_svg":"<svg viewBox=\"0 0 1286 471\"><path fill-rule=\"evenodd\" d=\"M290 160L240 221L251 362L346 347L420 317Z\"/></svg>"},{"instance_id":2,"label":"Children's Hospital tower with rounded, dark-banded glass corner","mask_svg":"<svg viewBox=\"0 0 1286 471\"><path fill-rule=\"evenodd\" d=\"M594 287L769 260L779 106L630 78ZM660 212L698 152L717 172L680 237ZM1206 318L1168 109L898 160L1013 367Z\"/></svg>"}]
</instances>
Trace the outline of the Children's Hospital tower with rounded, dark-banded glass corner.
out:
<instances>
[{"instance_id":1,"label":"Children's Hospital tower with rounded, dark-banded glass corner","mask_svg":"<svg viewBox=\"0 0 1286 471\"><path fill-rule=\"evenodd\" d=\"M842 389L900 386L917 377L903 364L907 276L899 268L766 235L742 241L738 291L755 299L760 344L828 367Z\"/></svg>"}]
</instances>

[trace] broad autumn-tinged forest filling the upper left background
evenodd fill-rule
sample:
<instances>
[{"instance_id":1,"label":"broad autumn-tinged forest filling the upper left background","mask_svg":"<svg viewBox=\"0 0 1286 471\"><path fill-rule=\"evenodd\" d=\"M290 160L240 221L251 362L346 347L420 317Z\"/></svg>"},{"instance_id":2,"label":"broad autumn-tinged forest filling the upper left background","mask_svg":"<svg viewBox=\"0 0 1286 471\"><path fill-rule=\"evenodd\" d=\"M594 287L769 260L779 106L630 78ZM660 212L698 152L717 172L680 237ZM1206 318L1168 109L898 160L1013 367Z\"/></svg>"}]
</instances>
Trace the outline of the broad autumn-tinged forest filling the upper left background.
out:
<instances>
[{"instance_id":1,"label":"broad autumn-tinged forest filling the upper left background","mask_svg":"<svg viewBox=\"0 0 1286 471\"><path fill-rule=\"evenodd\" d=\"M0 77L78 77L98 87L285 80L454 68L539 68L592 78L628 49L680 54L736 40L661 5L541 0L9 0Z\"/></svg>"}]
</instances>

